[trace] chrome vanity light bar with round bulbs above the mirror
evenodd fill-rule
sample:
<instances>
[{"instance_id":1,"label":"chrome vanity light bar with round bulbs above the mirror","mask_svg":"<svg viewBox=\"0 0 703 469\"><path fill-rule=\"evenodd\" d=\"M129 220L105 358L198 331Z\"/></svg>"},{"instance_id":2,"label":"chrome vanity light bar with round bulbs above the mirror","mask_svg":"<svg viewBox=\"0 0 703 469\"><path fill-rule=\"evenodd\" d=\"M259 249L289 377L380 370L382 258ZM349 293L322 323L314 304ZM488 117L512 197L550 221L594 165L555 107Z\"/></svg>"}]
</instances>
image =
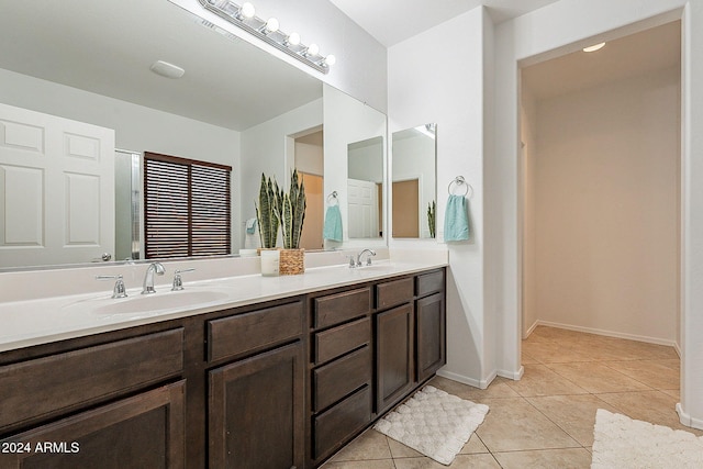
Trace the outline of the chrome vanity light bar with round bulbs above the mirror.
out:
<instances>
[{"instance_id":1,"label":"chrome vanity light bar with round bulbs above the mirror","mask_svg":"<svg viewBox=\"0 0 703 469\"><path fill-rule=\"evenodd\" d=\"M317 71L326 74L330 71L330 67L336 63L334 55L321 55L320 47L316 44L310 44L309 46L302 44L300 42L300 34L287 34L280 31L277 19L270 18L268 20L261 20L256 16L254 5L249 2L244 2L242 5L238 5L231 0L198 1L205 10L245 30L291 57L295 57L303 64L308 64Z\"/></svg>"}]
</instances>

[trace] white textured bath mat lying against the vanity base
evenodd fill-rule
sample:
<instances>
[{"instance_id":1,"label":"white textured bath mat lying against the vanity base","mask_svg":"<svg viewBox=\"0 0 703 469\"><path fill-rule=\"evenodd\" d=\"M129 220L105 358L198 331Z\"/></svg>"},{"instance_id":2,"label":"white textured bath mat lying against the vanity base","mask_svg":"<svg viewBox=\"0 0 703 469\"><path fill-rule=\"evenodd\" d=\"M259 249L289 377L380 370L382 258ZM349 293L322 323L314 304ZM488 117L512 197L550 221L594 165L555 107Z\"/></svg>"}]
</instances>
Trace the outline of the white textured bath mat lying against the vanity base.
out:
<instances>
[{"instance_id":1,"label":"white textured bath mat lying against the vanity base","mask_svg":"<svg viewBox=\"0 0 703 469\"><path fill-rule=\"evenodd\" d=\"M373 428L448 466L487 413L488 405L426 386Z\"/></svg>"}]
</instances>

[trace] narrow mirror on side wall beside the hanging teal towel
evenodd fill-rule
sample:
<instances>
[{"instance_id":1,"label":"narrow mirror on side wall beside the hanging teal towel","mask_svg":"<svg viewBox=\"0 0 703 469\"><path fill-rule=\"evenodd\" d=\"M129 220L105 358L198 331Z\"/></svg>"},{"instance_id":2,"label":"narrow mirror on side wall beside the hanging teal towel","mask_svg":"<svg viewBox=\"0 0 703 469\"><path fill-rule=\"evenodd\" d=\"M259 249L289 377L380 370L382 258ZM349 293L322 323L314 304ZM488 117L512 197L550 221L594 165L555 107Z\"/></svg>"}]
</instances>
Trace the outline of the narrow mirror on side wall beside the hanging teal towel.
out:
<instances>
[{"instance_id":1,"label":"narrow mirror on side wall beside the hanging teal towel","mask_svg":"<svg viewBox=\"0 0 703 469\"><path fill-rule=\"evenodd\" d=\"M434 123L392 135L392 236L434 238L436 228L437 126Z\"/></svg>"}]
</instances>

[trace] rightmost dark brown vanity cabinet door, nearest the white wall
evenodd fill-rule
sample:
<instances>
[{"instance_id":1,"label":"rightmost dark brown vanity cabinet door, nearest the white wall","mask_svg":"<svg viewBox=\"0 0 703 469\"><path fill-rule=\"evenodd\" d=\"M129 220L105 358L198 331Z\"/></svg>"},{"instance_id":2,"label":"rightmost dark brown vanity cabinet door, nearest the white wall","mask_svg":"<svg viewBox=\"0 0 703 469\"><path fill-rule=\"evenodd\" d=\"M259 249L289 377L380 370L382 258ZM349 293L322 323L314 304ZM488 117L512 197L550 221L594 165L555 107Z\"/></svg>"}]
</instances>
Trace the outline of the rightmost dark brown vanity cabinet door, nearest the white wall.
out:
<instances>
[{"instance_id":1,"label":"rightmost dark brown vanity cabinet door, nearest the white wall","mask_svg":"<svg viewBox=\"0 0 703 469\"><path fill-rule=\"evenodd\" d=\"M422 382L444 366L446 360L446 315L444 293L417 300L417 381Z\"/></svg>"}]
</instances>

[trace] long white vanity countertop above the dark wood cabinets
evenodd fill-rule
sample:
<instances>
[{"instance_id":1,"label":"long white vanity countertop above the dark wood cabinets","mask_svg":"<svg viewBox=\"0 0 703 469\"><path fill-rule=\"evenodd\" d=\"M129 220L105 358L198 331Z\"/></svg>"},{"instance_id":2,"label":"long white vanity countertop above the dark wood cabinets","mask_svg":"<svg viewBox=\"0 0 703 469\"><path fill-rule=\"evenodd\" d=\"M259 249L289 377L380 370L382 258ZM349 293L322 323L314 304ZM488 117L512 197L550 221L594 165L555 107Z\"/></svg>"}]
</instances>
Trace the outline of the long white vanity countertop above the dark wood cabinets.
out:
<instances>
[{"instance_id":1,"label":"long white vanity countertop above the dark wood cabinets","mask_svg":"<svg viewBox=\"0 0 703 469\"><path fill-rule=\"evenodd\" d=\"M150 295L127 290L127 298L111 292L72 294L0 303L0 351L80 337L136 325L185 317L253 303L345 287L384 277L444 267L442 260L381 260L370 267L305 269L298 276L245 275L213 280L183 279L186 289L171 292L157 287Z\"/></svg>"}]
</instances>

